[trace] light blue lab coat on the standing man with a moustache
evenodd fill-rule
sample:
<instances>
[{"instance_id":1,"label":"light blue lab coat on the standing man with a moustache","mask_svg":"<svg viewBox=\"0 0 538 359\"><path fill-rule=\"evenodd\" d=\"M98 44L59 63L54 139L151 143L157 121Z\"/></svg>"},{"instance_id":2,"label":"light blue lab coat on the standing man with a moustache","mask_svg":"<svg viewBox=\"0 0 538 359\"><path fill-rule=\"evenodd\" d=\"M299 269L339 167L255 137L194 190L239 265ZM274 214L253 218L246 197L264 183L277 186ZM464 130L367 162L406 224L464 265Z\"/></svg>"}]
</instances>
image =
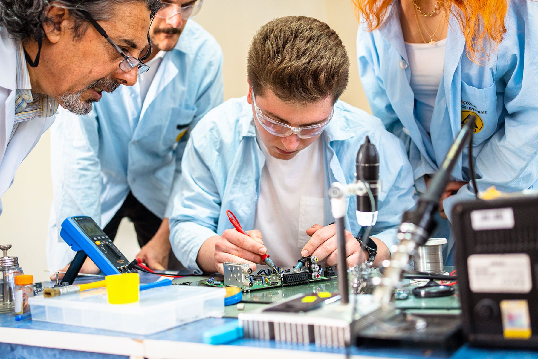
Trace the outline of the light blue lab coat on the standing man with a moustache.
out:
<instances>
[{"instance_id":1,"label":"light blue lab coat on the standing man with a moustache","mask_svg":"<svg viewBox=\"0 0 538 359\"><path fill-rule=\"evenodd\" d=\"M222 61L215 38L189 20L144 101L136 83L103 93L86 116L58 115L51 129L49 268L73 256L55 245L63 245L58 233L68 216L88 215L104 227L130 191L159 218L169 215L189 131L223 101Z\"/></svg>"}]
</instances>

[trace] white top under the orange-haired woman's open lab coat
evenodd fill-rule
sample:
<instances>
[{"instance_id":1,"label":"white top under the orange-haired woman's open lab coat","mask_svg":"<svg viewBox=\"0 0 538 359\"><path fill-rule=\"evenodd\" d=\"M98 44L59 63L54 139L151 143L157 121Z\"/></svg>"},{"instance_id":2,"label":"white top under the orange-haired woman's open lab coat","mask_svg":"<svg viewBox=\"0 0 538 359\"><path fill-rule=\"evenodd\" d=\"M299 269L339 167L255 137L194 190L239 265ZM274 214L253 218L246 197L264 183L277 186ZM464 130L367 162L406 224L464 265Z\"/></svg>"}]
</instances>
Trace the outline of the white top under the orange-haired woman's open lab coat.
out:
<instances>
[{"instance_id":1,"label":"white top under the orange-haired woman's open lab coat","mask_svg":"<svg viewBox=\"0 0 538 359\"><path fill-rule=\"evenodd\" d=\"M433 45L406 43L405 47L411 70L410 85L415 94L417 119L430 133L437 89L443 78L447 39Z\"/></svg>"}]
</instances>

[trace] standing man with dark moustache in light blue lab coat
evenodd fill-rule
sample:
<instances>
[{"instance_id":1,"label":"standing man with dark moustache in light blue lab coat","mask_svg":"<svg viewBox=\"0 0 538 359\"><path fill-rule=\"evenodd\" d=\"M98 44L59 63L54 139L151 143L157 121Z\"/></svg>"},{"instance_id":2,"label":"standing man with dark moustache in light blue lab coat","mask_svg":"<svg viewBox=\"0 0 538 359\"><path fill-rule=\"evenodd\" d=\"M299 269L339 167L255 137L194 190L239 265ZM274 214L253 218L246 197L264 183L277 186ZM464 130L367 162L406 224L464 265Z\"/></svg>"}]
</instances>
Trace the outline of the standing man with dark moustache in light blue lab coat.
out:
<instances>
[{"instance_id":1,"label":"standing man with dark moustache in light blue lab coat","mask_svg":"<svg viewBox=\"0 0 538 359\"><path fill-rule=\"evenodd\" d=\"M139 65L137 85L103 94L88 115L60 111L51 129L49 270L73 259L59 229L66 217L79 214L93 217L113 240L128 218L141 247L138 258L152 269L181 268L170 250L168 217L183 149L190 129L223 101L221 48L189 20L201 6L202 0L166 0L151 24L153 51ZM125 54L121 66L137 61ZM140 74L147 65L150 69ZM82 272L96 271L88 259Z\"/></svg>"}]
</instances>

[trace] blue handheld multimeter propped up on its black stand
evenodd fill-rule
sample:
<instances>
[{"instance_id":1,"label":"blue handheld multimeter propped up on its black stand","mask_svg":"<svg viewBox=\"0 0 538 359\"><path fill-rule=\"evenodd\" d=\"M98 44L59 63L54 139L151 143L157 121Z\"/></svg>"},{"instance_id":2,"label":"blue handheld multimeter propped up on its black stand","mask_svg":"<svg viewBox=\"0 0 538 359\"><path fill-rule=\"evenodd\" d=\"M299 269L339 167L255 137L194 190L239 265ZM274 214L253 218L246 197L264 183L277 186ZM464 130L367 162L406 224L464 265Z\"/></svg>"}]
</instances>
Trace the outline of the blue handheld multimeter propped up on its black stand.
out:
<instances>
[{"instance_id":1,"label":"blue handheld multimeter propped up on its black stand","mask_svg":"<svg viewBox=\"0 0 538 359\"><path fill-rule=\"evenodd\" d=\"M76 274L79 273L88 256L107 276L109 274L136 272L136 270L128 268L129 260L91 217L67 218L62 223L60 236L71 249L77 252L63 277L62 283L73 283Z\"/></svg>"}]
</instances>

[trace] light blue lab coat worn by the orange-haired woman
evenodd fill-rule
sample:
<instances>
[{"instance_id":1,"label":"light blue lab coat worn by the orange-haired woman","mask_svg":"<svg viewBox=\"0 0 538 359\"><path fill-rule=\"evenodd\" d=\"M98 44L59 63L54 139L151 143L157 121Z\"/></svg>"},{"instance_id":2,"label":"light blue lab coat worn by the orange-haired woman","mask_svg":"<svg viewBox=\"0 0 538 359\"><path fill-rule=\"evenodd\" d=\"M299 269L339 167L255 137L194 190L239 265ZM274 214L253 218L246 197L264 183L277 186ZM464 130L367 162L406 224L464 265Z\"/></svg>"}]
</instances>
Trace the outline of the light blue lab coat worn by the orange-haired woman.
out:
<instances>
[{"instance_id":1,"label":"light blue lab coat worn by the orange-haired woman","mask_svg":"<svg viewBox=\"0 0 538 359\"><path fill-rule=\"evenodd\" d=\"M500 191L515 192L538 185L537 17L538 3L509 2L504 40L482 66L466 56L457 19L450 17L431 138L414 111L398 3L392 3L378 30L370 32L364 24L359 26L358 65L370 107L388 130L404 140L420 192L425 189L424 174L438 169L462 127L462 119L470 114L464 111L480 118L472 146L479 191L494 185ZM452 180L470 180L468 160L465 148ZM455 202L472 197L473 189L466 185L444 200L449 219ZM452 244L448 244L445 256L452 257Z\"/></svg>"}]
</instances>

